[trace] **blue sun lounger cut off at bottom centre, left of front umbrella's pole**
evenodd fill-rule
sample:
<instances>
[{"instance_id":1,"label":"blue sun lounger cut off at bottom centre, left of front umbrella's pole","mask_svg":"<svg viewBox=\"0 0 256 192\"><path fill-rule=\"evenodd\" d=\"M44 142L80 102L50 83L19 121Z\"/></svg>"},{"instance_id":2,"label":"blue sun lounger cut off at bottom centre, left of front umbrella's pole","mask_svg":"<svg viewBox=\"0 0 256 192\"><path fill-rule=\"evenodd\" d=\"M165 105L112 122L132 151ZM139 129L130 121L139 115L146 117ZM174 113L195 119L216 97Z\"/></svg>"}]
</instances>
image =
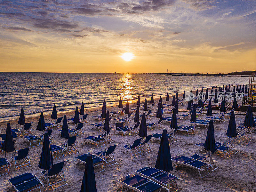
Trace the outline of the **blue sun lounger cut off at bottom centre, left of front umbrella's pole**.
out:
<instances>
[{"instance_id":1,"label":"blue sun lounger cut off at bottom centre, left of front umbrella's pole","mask_svg":"<svg viewBox=\"0 0 256 192\"><path fill-rule=\"evenodd\" d=\"M157 184L156 182L147 179L145 177L141 177L140 175L130 174L125 177L122 177L117 180L118 183L127 187L125 191L132 189L137 192L154 192L154 191L161 191L162 186Z\"/></svg>"}]
</instances>

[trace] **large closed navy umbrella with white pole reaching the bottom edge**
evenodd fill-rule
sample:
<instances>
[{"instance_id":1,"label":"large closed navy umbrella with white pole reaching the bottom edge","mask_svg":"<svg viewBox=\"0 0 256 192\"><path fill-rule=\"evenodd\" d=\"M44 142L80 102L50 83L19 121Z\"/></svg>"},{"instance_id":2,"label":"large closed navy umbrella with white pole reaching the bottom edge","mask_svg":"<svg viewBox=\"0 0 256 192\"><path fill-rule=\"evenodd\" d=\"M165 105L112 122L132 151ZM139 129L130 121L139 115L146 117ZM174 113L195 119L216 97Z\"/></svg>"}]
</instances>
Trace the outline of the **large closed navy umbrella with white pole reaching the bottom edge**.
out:
<instances>
[{"instance_id":1,"label":"large closed navy umbrella with white pole reaching the bottom edge","mask_svg":"<svg viewBox=\"0 0 256 192\"><path fill-rule=\"evenodd\" d=\"M156 158L156 169L166 171L168 177L168 189L170 191L170 179L169 179L169 172L173 170L172 168L172 157L170 152L170 145L167 137L166 129L163 130L161 142Z\"/></svg>"}]
</instances>

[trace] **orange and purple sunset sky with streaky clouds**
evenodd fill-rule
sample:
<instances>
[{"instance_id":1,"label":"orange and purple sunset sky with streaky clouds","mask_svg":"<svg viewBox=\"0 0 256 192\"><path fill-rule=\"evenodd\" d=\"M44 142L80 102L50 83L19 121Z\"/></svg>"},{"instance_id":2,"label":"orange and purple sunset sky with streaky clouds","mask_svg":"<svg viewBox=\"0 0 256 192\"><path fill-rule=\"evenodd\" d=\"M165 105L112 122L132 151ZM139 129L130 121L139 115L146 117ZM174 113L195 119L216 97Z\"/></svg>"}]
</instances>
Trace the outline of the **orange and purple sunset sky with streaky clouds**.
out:
<instances>
[{"instance_id":1,"label":"orange and purple sunset sky with streaky clouds","mask_svg":"<svg viewBox=\"0 0 256 192\"><path fill-rule=\"evenodd\" d=\"M256 70L256 1L0 1L0 71L167 69Z\"/></svg>"}]
</instances>

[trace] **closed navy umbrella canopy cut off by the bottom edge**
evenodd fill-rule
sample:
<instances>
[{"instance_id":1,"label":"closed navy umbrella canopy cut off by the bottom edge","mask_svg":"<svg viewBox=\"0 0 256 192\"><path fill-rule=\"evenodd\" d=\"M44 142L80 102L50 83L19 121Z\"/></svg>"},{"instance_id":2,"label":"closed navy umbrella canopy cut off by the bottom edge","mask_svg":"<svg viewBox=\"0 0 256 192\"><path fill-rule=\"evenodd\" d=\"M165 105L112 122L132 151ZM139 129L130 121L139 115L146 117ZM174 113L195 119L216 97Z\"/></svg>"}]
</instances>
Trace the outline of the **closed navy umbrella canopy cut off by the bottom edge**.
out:
<instances>
[{"instance_id":1,"label":"closed navy umbrella canopy cut off by the bottom edge","mask_svg":"<svg viewBox=\"0 0 256 192\"><path fill-rule=\"evenodd\" d=\"M87 154L80 192L97 192L92 155Z\"/></svg>"}]
</instances>

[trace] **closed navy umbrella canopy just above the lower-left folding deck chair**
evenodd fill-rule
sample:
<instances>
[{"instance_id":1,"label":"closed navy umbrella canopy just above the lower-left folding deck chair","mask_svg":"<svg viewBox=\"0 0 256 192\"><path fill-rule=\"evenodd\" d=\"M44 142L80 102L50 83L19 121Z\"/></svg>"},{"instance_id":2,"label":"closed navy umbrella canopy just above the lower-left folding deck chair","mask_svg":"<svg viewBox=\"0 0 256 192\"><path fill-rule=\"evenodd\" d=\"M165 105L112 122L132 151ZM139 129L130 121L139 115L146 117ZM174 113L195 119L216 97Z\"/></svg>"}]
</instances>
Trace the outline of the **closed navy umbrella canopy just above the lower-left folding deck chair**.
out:
<instances>
[{"instance_id":1,"label":"closed navy umbrella canopy just above the lower-left folding deck chair","mask_svg":"<svg viewBox=\"0 0 256 192\"><path fill-rule=\"evenodd\" d=\"M49 135L48 135L48 132L46 131L44 133L43 148L42 148L38 167L40 169L49 170L52 168L52 165L53 165L52 150L50 147Z\"/></svg>"}]
</instances>

